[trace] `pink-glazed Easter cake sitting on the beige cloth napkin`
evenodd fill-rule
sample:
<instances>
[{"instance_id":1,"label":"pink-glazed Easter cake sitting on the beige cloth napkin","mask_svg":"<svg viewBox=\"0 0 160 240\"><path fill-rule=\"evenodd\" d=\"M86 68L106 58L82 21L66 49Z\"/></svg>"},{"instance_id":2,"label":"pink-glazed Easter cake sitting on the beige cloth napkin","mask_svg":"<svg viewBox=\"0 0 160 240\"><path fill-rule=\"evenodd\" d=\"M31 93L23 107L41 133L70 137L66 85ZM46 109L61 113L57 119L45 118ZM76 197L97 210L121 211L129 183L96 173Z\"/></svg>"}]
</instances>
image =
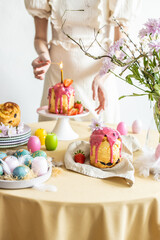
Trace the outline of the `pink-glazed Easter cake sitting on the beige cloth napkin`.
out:
<instances>
[{"instance_id":1,"label":"pink-glazed Easter cake sitting on the beige cloth napkin","mask_svg":"<svg viewBox=\"0 0 160 240\"><path fill-rule=\"evenodd\" d=\"M111 168L121 161L120 133L109 127L94 130L90 136L90 164Z\"/></svg>"}]
</instances>

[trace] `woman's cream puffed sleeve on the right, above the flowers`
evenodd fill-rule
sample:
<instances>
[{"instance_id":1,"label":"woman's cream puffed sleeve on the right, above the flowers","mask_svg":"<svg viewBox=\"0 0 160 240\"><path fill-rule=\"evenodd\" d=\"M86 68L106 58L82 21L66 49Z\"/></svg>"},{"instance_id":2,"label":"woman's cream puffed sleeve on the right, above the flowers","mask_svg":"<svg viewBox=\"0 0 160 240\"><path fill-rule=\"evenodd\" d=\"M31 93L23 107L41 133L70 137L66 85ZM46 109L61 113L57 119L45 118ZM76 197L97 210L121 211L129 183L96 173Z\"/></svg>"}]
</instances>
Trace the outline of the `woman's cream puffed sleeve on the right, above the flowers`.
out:
<instances>
[{"instance_id":1,"label":"woman's cream puffed sleeve on the right, above the flowers","mask_svg":"<svg viewBox=\"0 0 160 240\"><path fill-rule=\"evenodd\" d=\"M127 26L140 11L142 0L109 0L109 20L116 25L115 17L120 24Z\"/></svg>"}]
</instances>

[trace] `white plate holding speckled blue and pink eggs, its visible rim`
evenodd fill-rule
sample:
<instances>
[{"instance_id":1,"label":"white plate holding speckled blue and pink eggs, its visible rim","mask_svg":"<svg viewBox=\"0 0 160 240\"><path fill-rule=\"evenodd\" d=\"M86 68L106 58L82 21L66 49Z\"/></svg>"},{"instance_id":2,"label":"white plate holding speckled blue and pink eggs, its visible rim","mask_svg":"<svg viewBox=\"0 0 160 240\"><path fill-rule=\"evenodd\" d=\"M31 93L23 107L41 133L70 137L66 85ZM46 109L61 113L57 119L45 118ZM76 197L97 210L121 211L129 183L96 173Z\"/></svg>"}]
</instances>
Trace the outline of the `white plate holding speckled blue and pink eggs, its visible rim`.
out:
<instances>
[{"instance_id":1,"label":"white plate holding speckled blue and pink eggs, its visible rim","mask_svg":"<svg viewBox=\"0 0 160 240\"><path fill-rule=\"evenodd\" d=\"M32 178L28 180L16 180L16 181L10 181L10 180L0 180L0 188L5 189L20 189L20 188L29 188L33 187L36 184L43 183L47 181L52 174L52 166L49 165L48 172L40 177Z\"/></svg>"}]
</instances>

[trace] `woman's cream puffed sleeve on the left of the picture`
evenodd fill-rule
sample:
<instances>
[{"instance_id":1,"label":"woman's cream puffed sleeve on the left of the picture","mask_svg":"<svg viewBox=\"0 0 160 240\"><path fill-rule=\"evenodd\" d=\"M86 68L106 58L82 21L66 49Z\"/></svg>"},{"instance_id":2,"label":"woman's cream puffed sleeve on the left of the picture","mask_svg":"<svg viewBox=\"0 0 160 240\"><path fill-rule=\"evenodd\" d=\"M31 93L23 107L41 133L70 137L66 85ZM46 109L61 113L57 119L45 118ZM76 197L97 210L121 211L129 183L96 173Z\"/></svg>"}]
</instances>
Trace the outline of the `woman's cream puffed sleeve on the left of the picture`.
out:
<instances>
[{"instance_id":1,"label":"woman's cream puffed sleeve on the left of the picture","mask_svg":"<svg viewBox=\"0 0 160 240\"><path fill-rule=\"evenodd\" d=\"M46 18L51 14L51 8L48 0L24 0L27 11L33 16Z\"/></svg>"}]
</instances>

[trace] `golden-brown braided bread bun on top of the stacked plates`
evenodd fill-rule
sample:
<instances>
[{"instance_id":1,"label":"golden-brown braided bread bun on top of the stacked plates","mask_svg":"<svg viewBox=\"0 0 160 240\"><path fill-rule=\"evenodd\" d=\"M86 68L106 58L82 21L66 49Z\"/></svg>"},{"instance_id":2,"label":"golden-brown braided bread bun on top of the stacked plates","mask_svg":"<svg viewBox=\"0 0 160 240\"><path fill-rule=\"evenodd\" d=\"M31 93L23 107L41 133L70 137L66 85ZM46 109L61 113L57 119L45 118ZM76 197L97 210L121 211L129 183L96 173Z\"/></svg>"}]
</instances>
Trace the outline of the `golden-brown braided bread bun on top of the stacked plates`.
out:
<instances>
[{"instance_id":1,"label":"golden-brown braided bread bun on top of the stacked plates","mask_svg":"<svg viewBox=\"0 0 160 240\"><path fill-rule=\"evenodd\" d=\"M17 127L20 123L20 108L16 103L0 104L0 123Z\"/></svg>"}]
</instances>

